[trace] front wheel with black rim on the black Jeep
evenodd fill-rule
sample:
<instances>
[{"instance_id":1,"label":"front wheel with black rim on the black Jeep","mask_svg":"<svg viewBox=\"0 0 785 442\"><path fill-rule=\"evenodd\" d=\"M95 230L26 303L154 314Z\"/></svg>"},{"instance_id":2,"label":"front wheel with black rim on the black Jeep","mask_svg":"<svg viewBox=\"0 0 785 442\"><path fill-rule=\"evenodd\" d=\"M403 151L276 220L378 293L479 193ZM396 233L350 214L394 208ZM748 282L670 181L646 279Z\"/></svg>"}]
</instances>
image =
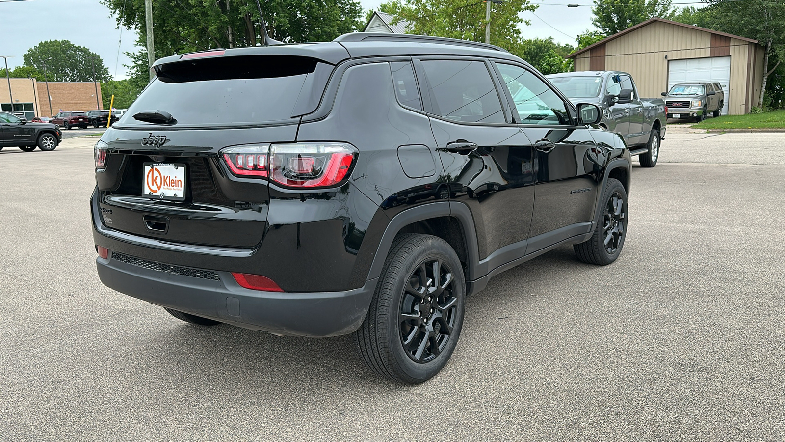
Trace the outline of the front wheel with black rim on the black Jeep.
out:
<instances>
[{"instance_id":1,"label":"front wheel with black rim on the black Jeep","mask_svg":"<svg viewBox=\"0 0 785 442\"><path fill-rule=\"evenodd\" d=\"M626 238L627 193L618 179L608 179L601 201L602 212L597 216L594 234L589 241L576 244L573 248L575 256L584 263L606 266L619 257ZM606 246L606 234L611 237L612 247Z\"/></svg>"}]
</instances>

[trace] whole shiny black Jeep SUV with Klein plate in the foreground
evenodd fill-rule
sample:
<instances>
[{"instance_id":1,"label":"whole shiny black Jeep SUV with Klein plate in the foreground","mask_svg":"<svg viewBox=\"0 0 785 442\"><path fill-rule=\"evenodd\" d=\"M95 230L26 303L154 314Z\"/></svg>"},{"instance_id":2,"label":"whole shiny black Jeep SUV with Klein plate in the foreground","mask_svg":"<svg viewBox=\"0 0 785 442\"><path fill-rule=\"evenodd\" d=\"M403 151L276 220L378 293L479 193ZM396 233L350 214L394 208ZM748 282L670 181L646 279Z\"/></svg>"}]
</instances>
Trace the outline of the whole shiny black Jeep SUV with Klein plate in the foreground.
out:
<instances>
[{"instance_id":1,"label":"whole shiny black Jeep SUV with Klein plate in the foreground","mask_svg":"<svg viewBox=\"0 0 785 442\"><path fill-rule=\"evenodd\" d=\"M414 383L495 274L623 247L623 139L496 46L354 33L153 69L95 146L93 237L105 285L178 319L352 333Z\"/></svg>"}]
</instances>

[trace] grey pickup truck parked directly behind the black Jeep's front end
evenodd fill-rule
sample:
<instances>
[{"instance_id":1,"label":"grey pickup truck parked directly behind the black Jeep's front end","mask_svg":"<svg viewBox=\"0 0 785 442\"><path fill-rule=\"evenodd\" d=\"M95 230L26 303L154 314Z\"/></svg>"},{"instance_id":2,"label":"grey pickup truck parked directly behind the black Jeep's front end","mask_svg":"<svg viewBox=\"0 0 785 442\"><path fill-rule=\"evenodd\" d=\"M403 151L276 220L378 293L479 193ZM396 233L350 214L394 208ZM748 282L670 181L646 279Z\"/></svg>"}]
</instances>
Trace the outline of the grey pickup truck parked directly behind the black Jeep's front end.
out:
<instances>
[{"instance_id":1,"label":"grey pickup truck parked directly behind the black Jeep's front end","mask_svg":"<svg viewBox=\"0 0 785 442\"><path fill-rule=\"evenodd\" d=\"M600 126L621 134L641 167L653 168L665 138L666 106L661 98L640 98L632 76L619 71L564 72L546 76L575 104L600 106Z\"/></svg>"}]
</instances>

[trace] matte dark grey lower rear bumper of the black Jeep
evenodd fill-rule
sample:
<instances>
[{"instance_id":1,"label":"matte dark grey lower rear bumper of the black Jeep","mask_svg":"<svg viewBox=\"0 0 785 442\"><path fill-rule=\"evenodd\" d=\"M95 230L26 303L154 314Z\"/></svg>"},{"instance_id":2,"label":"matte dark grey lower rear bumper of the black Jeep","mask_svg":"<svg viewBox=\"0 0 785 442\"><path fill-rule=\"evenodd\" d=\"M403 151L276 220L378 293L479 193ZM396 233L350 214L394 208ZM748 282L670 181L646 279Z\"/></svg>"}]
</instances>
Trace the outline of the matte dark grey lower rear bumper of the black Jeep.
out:
<instances>
[{"instance_id":1,"label":"matte dark grey lower rear bumper of the black Jeep","mask_svg":"<svg viewBox=\"0 0 785 442\"><path fill-rule=\"evenodd\" d=\"M97 258L104 285L131 297L252 330L288 336L330 337L357 330L376 279L360 289L328 293L276 293L243 289L228 272L220 281L150 270L110 257Z\"/></svg>"}]
</instances>

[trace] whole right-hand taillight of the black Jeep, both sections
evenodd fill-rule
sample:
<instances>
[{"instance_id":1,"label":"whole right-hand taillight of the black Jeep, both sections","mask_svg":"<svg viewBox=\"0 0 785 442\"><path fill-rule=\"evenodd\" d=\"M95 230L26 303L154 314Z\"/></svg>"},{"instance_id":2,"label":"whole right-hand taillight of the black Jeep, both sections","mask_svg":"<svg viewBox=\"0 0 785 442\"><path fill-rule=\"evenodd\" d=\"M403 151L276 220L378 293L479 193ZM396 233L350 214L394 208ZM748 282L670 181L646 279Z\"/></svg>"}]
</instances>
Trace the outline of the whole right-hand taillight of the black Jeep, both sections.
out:
<instances>
[{"instance_id":1,"label":"whole right-hand taillight of the black Jeep, both sections","mask_svg":"<svg viewBox=\"0 0 785 442\"><path fill-rule=\"evenodd\" d=\"M340 142L243 145L221 150L232 174L268 177L298 189L330 187L349 177L357 149Z\"/></svg>"}]
</instances>

